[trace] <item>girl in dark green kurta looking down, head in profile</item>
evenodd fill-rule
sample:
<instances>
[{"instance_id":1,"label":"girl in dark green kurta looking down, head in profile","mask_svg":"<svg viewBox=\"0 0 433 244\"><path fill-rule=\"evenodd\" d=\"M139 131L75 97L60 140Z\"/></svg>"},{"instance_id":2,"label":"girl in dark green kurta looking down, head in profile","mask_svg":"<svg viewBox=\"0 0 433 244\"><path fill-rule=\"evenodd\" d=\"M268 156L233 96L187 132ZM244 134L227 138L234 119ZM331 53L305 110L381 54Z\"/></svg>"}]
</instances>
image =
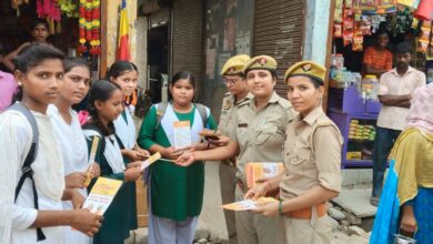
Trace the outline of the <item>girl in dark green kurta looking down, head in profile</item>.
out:
<instances>
[{"instance_id":1,"label":"girl in dark green kurta looking down, head in profile","mask_svg":"<svg viewBox=\"0 0 433 244\"><path fill-rule=\"evenodd\" d=\"M101 176L123 181L111 205L103 214L100 231L93 237L93 244L123 244L129 237L132 216L137 216L134 181L142 175L141 162L123 160L121 140L115 135L113 120L123 111L123 93L120 87L104 80L97 81L90 90L89 112L91 120L83 129L89 152L94 136L101 138L94 161L101 167ZM92 182L94 183L94 181ZM92 189L89 186L89 191Z\"/></svg>"}]
</instances>

